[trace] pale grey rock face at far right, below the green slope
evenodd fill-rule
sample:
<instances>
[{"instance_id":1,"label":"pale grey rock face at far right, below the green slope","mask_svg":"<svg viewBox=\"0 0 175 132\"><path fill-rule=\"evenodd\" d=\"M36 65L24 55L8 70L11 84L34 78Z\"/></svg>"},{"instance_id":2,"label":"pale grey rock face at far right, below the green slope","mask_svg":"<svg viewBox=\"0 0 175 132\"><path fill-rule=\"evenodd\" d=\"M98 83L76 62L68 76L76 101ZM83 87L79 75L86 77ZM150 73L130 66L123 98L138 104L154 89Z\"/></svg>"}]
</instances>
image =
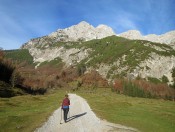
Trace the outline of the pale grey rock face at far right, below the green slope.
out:
<instances>
[{"instance_id":1,"label":"pale grey rock face at far right, below the green slope","mask_svg":"<svg viewBox=\"0 0 175 132\"><path fill-rule=\"evenodd\" d=\"M173 67L175 67L175 57L160 56L152 53L146 61L140 63L139 67L136 67L136 69L132 72L132 75L135 77L140 75L141 78L160 78L162 76L166 76L171 82L173 81L171 73Z\"/></svg>"}]
</instances>

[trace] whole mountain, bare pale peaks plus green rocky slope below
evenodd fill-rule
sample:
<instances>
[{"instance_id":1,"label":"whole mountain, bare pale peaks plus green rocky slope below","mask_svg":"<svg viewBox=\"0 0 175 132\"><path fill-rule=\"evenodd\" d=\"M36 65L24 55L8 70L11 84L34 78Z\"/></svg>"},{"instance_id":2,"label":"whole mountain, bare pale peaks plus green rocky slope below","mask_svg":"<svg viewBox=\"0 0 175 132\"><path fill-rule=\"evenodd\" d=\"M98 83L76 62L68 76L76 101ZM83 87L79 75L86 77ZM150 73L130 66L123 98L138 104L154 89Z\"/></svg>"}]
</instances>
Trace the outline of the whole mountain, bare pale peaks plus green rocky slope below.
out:
<instances>
[{"instance_id":1,"label":"whole mountain, bare pale peaks plus green rocky slope below","mask_svg":"<svg viewBox=\"0 0 175 132\"><path fill-rule=\"evenodd\" d=\"M29 50L36 68L59 58L65 67L81 64L87 72L96 70L108 81L120 76L173 80L175 31L146 36L137 30L116 34L106 25L93 27L82 21L31 39L21 48Z\"/></svg>"}]
</instances>

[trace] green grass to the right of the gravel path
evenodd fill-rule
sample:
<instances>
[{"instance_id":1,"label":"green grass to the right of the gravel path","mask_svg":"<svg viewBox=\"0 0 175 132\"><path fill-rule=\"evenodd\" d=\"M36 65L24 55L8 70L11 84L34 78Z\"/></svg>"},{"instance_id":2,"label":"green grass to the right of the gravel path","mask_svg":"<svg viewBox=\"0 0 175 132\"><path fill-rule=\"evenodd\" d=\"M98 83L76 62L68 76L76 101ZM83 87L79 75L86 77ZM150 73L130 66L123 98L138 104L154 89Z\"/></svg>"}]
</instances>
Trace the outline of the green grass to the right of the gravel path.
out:
<instances>
[{"instance_id":1,"label":"green grass to the right of the gravel path","mask_svg":"<svg viewBox=\"0 0 175 132\"><path fill-rule=\"evenodd\" d=\"M143 132L174 132L175 102L128 97L98 89L96 93L78 92L87 99L92 110L101 119Z\"/></svg>"}]
</instances>

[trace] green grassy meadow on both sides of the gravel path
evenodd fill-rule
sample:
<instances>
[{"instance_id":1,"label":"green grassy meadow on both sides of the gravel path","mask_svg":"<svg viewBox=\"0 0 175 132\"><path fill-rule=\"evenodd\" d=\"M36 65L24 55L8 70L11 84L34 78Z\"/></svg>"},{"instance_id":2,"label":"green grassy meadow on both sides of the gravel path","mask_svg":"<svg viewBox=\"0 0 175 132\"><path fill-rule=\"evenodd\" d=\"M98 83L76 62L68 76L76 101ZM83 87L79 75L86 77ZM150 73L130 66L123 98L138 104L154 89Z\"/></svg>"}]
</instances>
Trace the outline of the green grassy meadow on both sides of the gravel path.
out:
<instances>
[{"instance_id":1,"label":"green grassy meadow on both sides of the gravel path","mask_svg":"<svg viewBox=\"0 0 175 132\"><path fill-rule=\"evenodd\" d=\"M33 131L59 107L65 93L66 90L56 90L45 95L0 98L0 131ZM74 93L85 98L99 118L109 122L142 132L175 130L173 101L128 97L111 92L110 88L94 91L80 88Z\"/></svg>"}]
</instances>

